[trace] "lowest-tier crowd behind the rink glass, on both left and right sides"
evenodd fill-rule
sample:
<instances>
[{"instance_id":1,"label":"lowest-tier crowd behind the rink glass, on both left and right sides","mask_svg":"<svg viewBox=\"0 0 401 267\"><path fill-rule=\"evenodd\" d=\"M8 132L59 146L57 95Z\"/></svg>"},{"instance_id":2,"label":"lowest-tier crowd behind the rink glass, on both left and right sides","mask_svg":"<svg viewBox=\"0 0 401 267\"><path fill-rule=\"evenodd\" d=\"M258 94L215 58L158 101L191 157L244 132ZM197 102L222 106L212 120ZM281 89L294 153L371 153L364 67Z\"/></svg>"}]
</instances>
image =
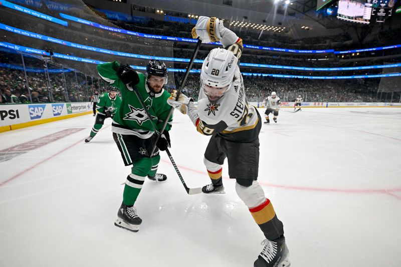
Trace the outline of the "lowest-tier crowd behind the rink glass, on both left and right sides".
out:
<instances>
[{"instance_id":1,"label":"lowest-tier crowd behind the rink glass, on both left and right sides","mask_svg":"<svg viewBox=\"0 0 401 267\"><path fill-rule=\"evenodd\" d=\"M184 73L175 73L175 81L169 80L166 86L168 91L176 88ZM66 75L68 76L68 75ZM33 103L45 102L79 102L89 101L94 89L99 90L98 84L86 86L77 84L74 79L67 79L68 99L64 90L63 79L51 79L52 89L49 92L48 81L44 73L31 73L28 77L29 89ZM309 80L284 79L270 77L244 76L246 95L249 101L262 102L272 91L275 91L282 101L291 102L298 95L302 95L306 102L380 102L377 98L379 79L352 79L352 80ZM107 90L104 82L100 92ZM183 88L183 93L197 100L200 83L198 74L190 74ZM86 91L88 89L88 93ZM2 104L28 103L29 93L24 74L19 70L0 68L0 95ZM386 100L387 102L390 99ZM393 102L398 102L394 97Z\"/></svg>"}]
</instances>

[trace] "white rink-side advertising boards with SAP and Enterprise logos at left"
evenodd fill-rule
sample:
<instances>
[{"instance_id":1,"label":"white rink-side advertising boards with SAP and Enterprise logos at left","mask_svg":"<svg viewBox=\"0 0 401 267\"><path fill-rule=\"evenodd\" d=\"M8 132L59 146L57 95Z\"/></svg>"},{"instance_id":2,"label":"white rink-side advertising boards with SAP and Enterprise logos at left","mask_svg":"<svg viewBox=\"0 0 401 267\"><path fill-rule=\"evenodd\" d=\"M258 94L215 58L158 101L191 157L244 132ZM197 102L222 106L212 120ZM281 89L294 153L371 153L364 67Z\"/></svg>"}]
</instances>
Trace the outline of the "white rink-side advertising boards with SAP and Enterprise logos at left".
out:
<instances>
[{"instance_id":1,"label":"white rink-side advertising boards with SAP and Enterprise logos at left","mask_svg":"<svg viewBox=\"0 0 401 267\"><path fill-rule=\"evenodd\" d=\"M0 105L0 127L92 111L92 103Z\"/></svg>"}]
</instances>

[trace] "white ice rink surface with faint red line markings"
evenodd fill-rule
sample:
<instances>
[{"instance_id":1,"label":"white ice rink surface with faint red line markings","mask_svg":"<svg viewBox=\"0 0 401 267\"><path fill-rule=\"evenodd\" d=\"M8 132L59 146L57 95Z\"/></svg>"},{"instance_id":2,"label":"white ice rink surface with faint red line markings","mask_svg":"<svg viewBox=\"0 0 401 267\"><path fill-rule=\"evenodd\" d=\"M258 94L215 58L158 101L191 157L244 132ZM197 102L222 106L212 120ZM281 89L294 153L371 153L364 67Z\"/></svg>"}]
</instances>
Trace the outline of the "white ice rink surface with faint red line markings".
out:
<instances>
[{"instance_id":1,"label":"white ice rink surface with faint red line markings","mask_svg":"<svg viewBox=\"0 0 401 267\"><path fill-rule=\"evenodd\" d=\"M401 109L291 110L262 125L258 178L291 266L401 266ZM84 143L93 123L85 115L0 134L0 266L253 266L264 236L227 161L226 194L187 195L162 152L168 179L145 181L139 232L115 227L130 167L110 119ZM170 135L187 185L210 183L209 137L177 112Z\"/></svg>"}]
</instances>

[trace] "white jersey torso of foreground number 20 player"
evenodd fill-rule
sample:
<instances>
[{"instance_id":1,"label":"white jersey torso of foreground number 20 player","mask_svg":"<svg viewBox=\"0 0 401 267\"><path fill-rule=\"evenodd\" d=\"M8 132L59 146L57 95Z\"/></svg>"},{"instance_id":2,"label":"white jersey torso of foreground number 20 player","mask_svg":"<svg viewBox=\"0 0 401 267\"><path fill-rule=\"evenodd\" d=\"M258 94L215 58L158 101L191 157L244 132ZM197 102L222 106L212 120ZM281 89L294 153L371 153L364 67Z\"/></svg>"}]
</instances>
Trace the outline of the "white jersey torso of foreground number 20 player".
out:
<instances>
[{"instance_id":1,"label":"white jersey torso of foreground number 20 player","mask_svg":"<svg viewBox=\"0 0 401 267\"><path fill-rule=\"evenodd\" d=\"M199 91L196 130L205 135L218 134L230 141L250 142L258 137L259 114L248 104L240 68L236 66L235 81L216 103Z\"/></svg>"}]
</instances>

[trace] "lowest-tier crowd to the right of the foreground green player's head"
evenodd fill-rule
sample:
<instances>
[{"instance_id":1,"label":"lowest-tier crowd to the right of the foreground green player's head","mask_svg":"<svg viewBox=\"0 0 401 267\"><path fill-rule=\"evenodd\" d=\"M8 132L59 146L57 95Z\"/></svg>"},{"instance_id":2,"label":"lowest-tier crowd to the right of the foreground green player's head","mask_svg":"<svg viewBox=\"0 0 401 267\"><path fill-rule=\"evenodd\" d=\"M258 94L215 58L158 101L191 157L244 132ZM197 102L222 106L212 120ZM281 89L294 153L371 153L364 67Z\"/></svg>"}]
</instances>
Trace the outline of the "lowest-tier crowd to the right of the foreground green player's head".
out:
<instances>
[{"instance_id":1,"label":"lowest-tier crowd to the right of the foreground green player's head","mask_svg":"<svg viewBox=\"0 0 401 267\"><path fill-rule=\"evenodd\" d=\"M175 76L180 81L183 73ZM379 83L379 79L309 80L244 76L245 92L251 102L262 102L273 91L285 102L294 101L298 95L302 95L306 102L380 102L384 99L377 98ZM199 75L191 74L183 93L197 100L199 88ZM397 97L393 102L399 101Z\"/></svg>"}]
</instances>

